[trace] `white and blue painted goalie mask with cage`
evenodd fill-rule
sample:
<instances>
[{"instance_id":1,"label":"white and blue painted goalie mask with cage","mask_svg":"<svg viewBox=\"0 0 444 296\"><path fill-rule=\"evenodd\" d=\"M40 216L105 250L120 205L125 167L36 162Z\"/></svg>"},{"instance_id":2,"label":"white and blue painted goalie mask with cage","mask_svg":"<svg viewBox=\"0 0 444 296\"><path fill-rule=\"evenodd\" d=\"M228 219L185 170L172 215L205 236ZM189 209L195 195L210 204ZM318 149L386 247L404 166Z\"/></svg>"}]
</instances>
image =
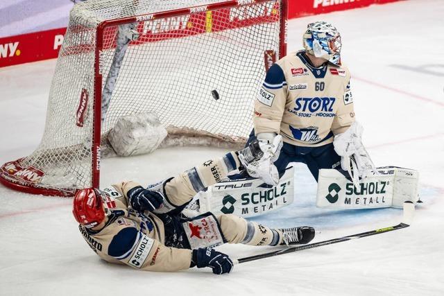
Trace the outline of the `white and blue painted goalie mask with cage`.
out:
<instances>
[{"instance_id":1,"label":"white and blue painted goalie mask with cage","mask_svg":"<svg viewBox=\"0 0 444 296\"><path fill-rule=\"evenodd\" d=\"M302 42L307 53L341 65L341 35L332 24L325 21L308 24Z\"/></svg>"}]
</instances>

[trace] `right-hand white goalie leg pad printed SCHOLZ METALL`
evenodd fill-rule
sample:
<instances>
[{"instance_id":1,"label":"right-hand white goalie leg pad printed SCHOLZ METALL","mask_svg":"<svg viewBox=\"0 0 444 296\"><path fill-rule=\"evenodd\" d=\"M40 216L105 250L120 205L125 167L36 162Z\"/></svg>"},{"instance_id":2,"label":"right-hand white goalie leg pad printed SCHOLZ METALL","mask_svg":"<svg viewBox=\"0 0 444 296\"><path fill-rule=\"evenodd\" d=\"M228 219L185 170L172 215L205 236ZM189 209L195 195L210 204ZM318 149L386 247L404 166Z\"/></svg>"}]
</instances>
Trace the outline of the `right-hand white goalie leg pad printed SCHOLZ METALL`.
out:
<instances>
[{"instance_id":1,"label":"right-hand white goalie leg pad printed SCHOLZ METALL","mask_svg":"<svg viewBox=\"0 0 444 296\"><path fill-rule=\"evenodd\" d=\"M402 208L405 201L418 200L418 171L397 166L377 168L355 186L334 169L319 171L316 206L334 209Z\"/></svg>"}]
</instances>

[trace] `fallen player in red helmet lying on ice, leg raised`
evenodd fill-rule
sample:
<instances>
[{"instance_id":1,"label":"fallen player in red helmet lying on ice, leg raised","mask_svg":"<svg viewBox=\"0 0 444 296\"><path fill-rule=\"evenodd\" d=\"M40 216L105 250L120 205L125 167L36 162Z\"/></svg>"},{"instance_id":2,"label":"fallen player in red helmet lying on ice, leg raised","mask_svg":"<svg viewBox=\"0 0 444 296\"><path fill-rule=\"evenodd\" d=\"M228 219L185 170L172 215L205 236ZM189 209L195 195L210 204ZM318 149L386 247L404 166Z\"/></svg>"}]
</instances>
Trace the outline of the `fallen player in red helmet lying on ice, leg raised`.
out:
<instances>
[{"instance_id":1,"label":"fallen player in red helmet lying on ice, leg raised","mask_svg":"<svg viewBox=\"0 0 444 296\"><path fill-rule=\"evenodd\" d=\"M314 238L312 227L271 229L232 214L207 212L194 218L182 214L198 191L231 171L252 162L271 163L273 153L261 147L253 141L243 150L208 160L148 189L121 182L103 190L79 190L73 214L80 232L92 250L110 263L152 271L210 267L218 275L230 272L233 263L214 250L217 245L309 243Z\"/></svg>"}]
</instances>

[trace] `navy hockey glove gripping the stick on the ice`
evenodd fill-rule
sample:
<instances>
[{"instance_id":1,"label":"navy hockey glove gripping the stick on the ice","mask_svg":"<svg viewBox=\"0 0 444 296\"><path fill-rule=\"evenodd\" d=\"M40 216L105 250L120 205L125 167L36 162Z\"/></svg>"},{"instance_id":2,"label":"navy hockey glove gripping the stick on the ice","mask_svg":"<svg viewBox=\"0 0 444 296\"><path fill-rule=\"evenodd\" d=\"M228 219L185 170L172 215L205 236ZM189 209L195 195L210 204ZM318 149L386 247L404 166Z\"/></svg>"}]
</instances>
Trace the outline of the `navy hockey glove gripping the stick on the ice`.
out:
<instances>
[{"instance_id":1,"label":"navy hockey glove gripping the stick on the ice","mask_svg":"<svg viewBox=\"0 0 444 296\"><path fill-rule=\"evenodd\" d=\"M212 247L201 247L193 250L191 266L198 268L210 267L215 275L230 273L233 269L233 261L228 255L217 252Z\"/></svg>"}]
</instances>

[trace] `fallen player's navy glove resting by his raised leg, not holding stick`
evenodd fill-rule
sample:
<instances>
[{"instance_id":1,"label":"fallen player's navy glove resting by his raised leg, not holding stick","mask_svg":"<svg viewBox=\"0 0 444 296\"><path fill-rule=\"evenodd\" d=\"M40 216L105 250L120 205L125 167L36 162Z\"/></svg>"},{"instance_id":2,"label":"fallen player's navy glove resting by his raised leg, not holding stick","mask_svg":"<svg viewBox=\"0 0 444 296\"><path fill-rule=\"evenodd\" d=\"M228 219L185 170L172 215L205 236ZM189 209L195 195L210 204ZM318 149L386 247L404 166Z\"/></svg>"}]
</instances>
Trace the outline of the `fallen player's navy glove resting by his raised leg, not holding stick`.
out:
<instances>
[{"instance_id":1,"label":"fallen player's navy glove resting by his raised leg, not holding stick","mask_svg":"<svg viewBox=\"0 0 444 296\"><path fill-rule=\"evenodd\" d=\"M154 211L164 202L164 196L158 191L144 189L137 186L128 191L128 200L136 211Z\"/></svg>"}]
</instances>

